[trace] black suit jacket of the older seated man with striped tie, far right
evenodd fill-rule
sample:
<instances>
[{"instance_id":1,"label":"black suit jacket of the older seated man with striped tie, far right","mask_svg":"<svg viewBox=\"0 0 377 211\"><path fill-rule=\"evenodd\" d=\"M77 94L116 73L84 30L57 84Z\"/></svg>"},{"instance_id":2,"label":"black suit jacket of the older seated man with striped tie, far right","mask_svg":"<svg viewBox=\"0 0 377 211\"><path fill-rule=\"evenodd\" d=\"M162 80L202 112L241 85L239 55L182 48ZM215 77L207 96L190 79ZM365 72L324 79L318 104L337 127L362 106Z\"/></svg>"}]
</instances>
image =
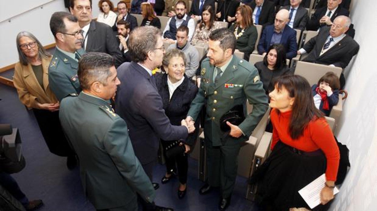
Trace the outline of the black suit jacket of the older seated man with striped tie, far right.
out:
<instances>
[{"instance_id":1,"label":"black suit jacket of the older seated man with striped tie, far right","mask_svg":"<svg viewBox=\"0 0 377 211\"><path fill-rule=\"evenodd\" d=\"M322 28L317 36L305 43L303 49L305 49L309 55L303 61L323 65L333 64L344 69L352 57L359 52L359 44L349 35L346 35L342 40L336 43L336 45L328 49L322 55L319 55L330 34L329 31L329 26Z\"/></svg>"}]
</instances>

